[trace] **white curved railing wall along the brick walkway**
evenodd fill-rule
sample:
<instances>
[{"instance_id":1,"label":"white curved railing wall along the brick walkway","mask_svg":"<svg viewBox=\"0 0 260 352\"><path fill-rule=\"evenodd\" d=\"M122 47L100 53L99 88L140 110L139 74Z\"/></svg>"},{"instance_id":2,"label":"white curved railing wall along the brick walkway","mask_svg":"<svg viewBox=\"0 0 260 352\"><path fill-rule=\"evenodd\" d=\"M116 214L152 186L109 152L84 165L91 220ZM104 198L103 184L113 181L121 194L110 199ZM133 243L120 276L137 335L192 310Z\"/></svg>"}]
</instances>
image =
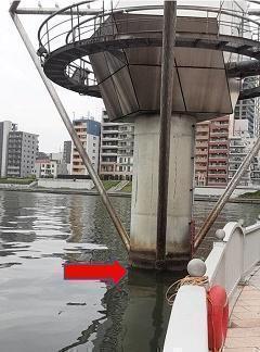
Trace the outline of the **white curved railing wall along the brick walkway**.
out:
<instances>
[{"instance_id":1,"label":"white curved railing wall along the brick walkway","mask_svg":"<svg viewBox=\"0 0 260 352\"><path fill-rule=\"evenodd\" d=\"M206 264L209 287L225 288L230 312L238 284L260 261L260 222L243 227L229 223L218 231ZM177 293L165 340L164 352L208 352L207 292L204 287L182 286Z\"/></svg>"}]
</instances>

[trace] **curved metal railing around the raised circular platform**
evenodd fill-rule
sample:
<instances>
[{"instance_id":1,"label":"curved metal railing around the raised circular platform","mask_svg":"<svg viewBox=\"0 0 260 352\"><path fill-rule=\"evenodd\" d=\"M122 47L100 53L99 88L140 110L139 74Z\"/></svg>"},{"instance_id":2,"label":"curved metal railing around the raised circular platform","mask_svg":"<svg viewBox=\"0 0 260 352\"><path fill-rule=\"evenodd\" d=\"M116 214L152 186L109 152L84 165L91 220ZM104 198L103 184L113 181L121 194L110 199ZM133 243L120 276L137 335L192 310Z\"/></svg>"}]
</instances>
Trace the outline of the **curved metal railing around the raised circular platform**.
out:
<instances>
[{"instance_id":1,"label":"curved metal railing around the raised circular platform","mask_svg":"<svg viewBox=\"0 0 260 352\"><path fill-rule=\"evenodd\" d=\"M104 9L104 3L95 10L89 8L92 0L81 1L79 3L66 7L56 11L50 15L41 24L38 30L39 41L39 55L42 62L48 58L50 53L56 49L68 46L77 45L82 40L101 40L107 36L115 37L118 34L118 27L120 27L120 35L136 35L140 33L133 32L134 24L145 25L154 23L155 21L161 22L156 15L162 15L161 5L138 5L138 7L123 7L114 9L113 1L109 2L109 9ZM95 1L96 3L96 1ZM99 1L98 1L99 7ZM95 7L96 8L96 7ZM131 15L135 12L147 12L154 14L154 18L148 16L140 18L133 18ZM67 14L64 20L63 14ZM115 18L117 14L125 14L122 18ZM205 34L229 34L235 37L244 37L259 40L260 26L259 22L246 16L245 12L239 8L235 9L232 4L232 9L224 9L221 5L219 8L198 7L198 5L178 5L178 15L191 16L193 21L200 23L202 17L205 20ZM138 21L138 22L136 22ZM217 23L217 33L212 33L212 21ZM160 28L160 26L159 26ZM159 30L144 30L142 35L158 35ZM180 33L180 32L179 32ZM80 47L77 47L80 50ZM96 86L96 79L92 66L82 51L82 58L77 59L77 62L70 62L65 71L68 78L78 81L82 87ZM232 54L230 54L231 60Z\"/></svg>"}]
</instances>

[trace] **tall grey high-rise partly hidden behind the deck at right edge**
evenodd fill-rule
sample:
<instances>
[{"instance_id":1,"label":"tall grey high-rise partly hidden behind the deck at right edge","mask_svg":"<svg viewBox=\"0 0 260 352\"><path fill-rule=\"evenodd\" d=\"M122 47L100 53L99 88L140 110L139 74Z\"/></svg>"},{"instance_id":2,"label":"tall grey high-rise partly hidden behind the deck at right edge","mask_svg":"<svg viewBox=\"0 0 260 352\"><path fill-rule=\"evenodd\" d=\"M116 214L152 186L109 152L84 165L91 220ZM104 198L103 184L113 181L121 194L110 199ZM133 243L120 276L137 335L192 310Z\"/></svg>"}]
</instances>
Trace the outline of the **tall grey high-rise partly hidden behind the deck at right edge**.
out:
<instances>
[{"instance_id":1,"label":"tall grey high-rise partly hidden behind the deck at right edge","mask_svg":"<svg viewBox=\"0 0 260 352\"><path fill-rule=\"evenodd\" d=\"M243 90L257 87L258 85L258 77L247 77L243 81ZM260 123L259 98L239 100L235 106L234 118L247 120L250 137L258 136Z\"/></svg>"}]
</instances>

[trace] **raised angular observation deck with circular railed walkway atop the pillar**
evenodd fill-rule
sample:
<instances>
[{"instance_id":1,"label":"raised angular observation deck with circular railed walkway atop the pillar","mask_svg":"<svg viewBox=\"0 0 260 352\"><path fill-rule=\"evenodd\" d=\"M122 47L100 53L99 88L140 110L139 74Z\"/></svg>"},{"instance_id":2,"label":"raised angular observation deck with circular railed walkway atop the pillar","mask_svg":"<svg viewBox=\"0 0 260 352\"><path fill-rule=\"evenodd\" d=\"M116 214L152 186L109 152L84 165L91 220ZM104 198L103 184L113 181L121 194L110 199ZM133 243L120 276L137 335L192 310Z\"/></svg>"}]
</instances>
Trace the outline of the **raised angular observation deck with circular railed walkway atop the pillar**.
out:
<instances>
[{"instance_id":1,"label":"raised angular observation deck with circular railed walkway atop the pillar","mask_svg":"<svg viewBox=\"0 0 260 352\"><path fill-rule=\"evenodd\" d=\"M102 97L112 120L158 112L159 86L151 95L142 95L145 85L141 85L140 76L150 89L160 76L162 15L158 13L162 14L162 5L93 11L87 8L89 3L82 1L58 10L40 26L38 54L46 75L80 95ZM70 15L64 20L61 16L64 13ZM259 23L243 10L179 5L173 110L192 113L200 120L232 113L233 102L223 101L220 95L227 97L230 90L232 96L234 85L234 90L239 89L237 79L260 74L259 28ZM224 72L230 85L224 85ZM206 75L210 84L203 80ZM194 92L192 79L200 81L200 96ZM219 91L217 86L221 87ZM207 109L209 88L216 104L210 102ZM238 99L259 95L260 88L255 87L240 91ZM237 95L234 97L231 100L236 100ZM153 104L147 103L151 98ZM115 104L120 106L118 111L112 106ZM205 109L207 114L202 116Z\"/></svg>"}]
</instances>

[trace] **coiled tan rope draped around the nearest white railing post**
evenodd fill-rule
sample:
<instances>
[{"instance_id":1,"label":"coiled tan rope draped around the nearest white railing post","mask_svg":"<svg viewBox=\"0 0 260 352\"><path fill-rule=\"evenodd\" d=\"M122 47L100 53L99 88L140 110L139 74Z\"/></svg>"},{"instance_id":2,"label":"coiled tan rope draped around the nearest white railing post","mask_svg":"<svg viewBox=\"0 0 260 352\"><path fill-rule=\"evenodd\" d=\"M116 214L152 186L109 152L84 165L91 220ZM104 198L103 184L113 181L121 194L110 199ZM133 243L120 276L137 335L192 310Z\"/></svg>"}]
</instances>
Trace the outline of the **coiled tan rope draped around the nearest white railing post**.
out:
<instances>
[{"instance_id":1,"label":"coiled tan rope draped around the nearest white railing post","mask_svg":"<svg viewBox=\"0 0 260 352\"><path fill-rule=\"evenodd\" d=\"M206 286L208 284L208 276L185 276L182 279L171 284L167 291L166 291L166 300L167 302L172 305L174 302L174 298L177 296L178 290L180 287L184 285L192 285L192 286Z\"/></svg>"}]
</instances>

